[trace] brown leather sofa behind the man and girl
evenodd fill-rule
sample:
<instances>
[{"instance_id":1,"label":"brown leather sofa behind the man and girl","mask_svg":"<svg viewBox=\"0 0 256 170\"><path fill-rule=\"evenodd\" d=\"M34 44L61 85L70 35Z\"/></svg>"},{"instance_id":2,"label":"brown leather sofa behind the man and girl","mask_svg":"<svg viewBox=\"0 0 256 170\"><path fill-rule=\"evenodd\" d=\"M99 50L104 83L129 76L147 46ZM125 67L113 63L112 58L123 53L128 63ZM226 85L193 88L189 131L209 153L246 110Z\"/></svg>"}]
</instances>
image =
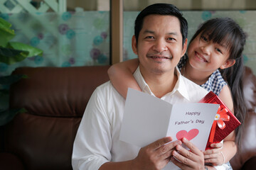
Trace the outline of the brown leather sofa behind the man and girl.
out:
<instances>
[{"instance_id":1,"label":"brown leather sofa behind the man and girl","mask_svg":"<svg viewBox=\"0 0 256 170\"><path fill-rule=\"evenodd\" d=\"M72 169L76 131L96 86L108 81L109 66L23 67L26 74L11 86L10 107L26 113L1 129L0 169ZM248 116L242 150L230 161L233 169L256 167L256 78L246 67L244 79Z\"/></svg>"}]
</instances>

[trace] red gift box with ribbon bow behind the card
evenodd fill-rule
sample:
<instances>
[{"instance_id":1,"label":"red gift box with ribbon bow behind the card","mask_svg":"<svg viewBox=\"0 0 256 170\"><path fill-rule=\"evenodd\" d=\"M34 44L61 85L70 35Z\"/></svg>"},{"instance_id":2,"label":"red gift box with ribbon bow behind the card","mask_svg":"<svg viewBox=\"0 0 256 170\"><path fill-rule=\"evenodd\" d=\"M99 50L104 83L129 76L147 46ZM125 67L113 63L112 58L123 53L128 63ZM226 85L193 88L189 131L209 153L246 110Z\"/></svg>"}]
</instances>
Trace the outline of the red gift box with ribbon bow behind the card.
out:
<instances>
[{"instance_id":1,"label":"red gift box with ribbon bow behind the card","mask_svg":"<svg viewBox=\"0 0 256 170\"><path fill-rule=\"evenodd\" d=\"M213 125L206 145L206 150L212 149L210 144L221 142L230 134L230 132L233 132L235 128L238 128L241 123L237 118L235 118L235 115L233 115L228 107L225 106L220 98L213 93L213 91L210 91L201 99L201 101L199 101L199 103L215 103L220 105L218 112L215 115L215 119L213 120Z\"/></svg>"}]
</instances>

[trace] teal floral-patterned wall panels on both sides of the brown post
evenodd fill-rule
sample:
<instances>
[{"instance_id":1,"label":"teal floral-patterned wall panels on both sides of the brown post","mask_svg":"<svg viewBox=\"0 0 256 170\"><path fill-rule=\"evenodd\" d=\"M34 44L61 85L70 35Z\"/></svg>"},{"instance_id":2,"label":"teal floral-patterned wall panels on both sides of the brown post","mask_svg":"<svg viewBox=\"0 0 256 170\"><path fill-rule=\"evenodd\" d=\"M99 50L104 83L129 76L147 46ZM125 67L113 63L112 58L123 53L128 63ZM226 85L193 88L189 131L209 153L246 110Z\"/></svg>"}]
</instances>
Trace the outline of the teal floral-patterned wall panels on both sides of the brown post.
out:
<instances>
[{"instance_id":1,"label":"teal floral-patterned wall panels on both sides of the brown post","mask_svg":"<svg viewBox=\"0 0 256 170\"><path fill-rule=\"evenodd\" d=\"M138 11L124 12L124 60L137 57L132 52L131 38ZM244 50L245 65L256 73L256 11L183 11L188 20L188 40L198 25L209 18L229 16L247 33ZM13 24L14 41L28 43L43 50L43 56L7 65L0 63L0 76L16 67L75 67L110 63L109 11L80 11L56 13L4 14L0 16Z\"/></svg>"}]
</instances>

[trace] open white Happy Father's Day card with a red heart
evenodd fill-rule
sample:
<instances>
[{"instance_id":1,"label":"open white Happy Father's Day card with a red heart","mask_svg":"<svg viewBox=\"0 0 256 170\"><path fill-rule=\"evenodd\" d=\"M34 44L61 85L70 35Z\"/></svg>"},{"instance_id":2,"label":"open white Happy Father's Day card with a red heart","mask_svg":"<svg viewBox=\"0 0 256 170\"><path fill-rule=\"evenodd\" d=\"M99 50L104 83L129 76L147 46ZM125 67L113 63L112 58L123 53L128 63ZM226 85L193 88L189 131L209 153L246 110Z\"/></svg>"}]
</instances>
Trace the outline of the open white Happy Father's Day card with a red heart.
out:
<instances>
[{"instance_id":1,"label":"open white Happy Father's Day card with a red heart","mask_svg":"<svg viewBox=\"0 0 256 170\"><path fill-rule=\"evenodd\" d=\"M171 104L149 94L129 89L119 139L144 147L162 137L186 137L201 150L206 148L219 105Z\"/></svg>"}]
</instances>

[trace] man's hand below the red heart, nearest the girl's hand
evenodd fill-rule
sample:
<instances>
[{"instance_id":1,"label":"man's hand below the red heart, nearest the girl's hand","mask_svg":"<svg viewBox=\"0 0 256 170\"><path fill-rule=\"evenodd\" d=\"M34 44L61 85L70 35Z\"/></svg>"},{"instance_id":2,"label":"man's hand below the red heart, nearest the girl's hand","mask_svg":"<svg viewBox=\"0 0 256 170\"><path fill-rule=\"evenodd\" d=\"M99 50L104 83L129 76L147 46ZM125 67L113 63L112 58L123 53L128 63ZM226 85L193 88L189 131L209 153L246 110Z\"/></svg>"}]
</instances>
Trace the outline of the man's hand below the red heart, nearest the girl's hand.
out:
<instances>
[{"instance_id":1,"label":"man's hand below the red heart, nearest the girl's hand","mask_svg":"<svg viewBox=\"0 0 256 170\"><path fill-rule=\"evenodd\" d=\"M171 162L174 162L174 164L181 169L204 170L203 152L193 145L193 143L186 140L186 138L183 138L181 141L186 145L186 147L188 147L188 149L190 149L190 151L183 148L181 145L177 145L176 150L172 152L172 155L175 158L172 157Z\"/></svg>"}]
</instances>

